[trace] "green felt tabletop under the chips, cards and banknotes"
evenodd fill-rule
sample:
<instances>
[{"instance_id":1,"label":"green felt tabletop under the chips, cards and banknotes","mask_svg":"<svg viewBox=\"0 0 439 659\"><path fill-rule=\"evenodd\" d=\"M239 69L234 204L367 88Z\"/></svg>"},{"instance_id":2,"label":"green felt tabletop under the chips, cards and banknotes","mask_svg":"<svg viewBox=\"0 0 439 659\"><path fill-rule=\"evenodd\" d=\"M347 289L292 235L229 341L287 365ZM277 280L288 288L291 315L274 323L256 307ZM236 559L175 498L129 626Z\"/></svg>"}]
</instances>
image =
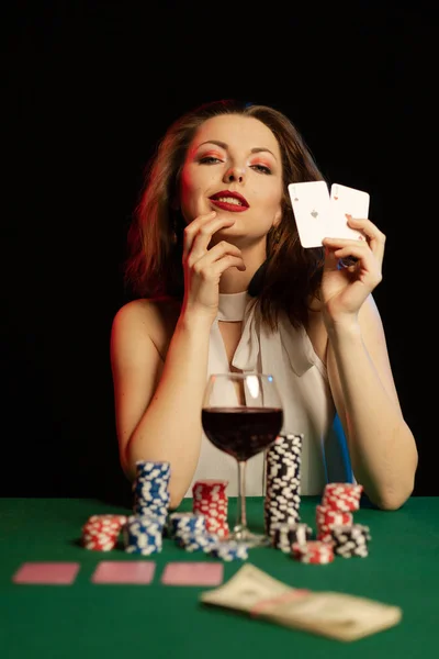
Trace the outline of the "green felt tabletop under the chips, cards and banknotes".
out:
<instances>
[{"instance_id":1,"label":"green felt tabletop under the chips, cards and banknotes","mask_svg":"<svg viewBox=\"0 0 439 659\"><path fill-rule=\"evenodd\" d=\"M185 500L180 510L191 510ZM318 498L302 498L302 521L315 528ZM248 521L262 527L262 500L249 498ZM233 523L236 500L229 500ZM367 558L323 566L302 565L270 547L255 548L249 561L297 588L331 590L401 606L402 622L351 643L283 628L268 622L200 604L212 587L164 585L171 561L214 561L165 539L160 554L139 558L122 547L111 552L80 546L81 526L95 513L127 513L87 499L0 500L0 657L4 659L113 659L121 657L439 657L439 498L412 498L401 510L361 507L354 521L370 526ZM154 560L150 584L97 584L102 560ZM76 561L71 585L13 583L27 561ZM224 582L241 566L224 563Z\"/></svg>"}]
</instances>

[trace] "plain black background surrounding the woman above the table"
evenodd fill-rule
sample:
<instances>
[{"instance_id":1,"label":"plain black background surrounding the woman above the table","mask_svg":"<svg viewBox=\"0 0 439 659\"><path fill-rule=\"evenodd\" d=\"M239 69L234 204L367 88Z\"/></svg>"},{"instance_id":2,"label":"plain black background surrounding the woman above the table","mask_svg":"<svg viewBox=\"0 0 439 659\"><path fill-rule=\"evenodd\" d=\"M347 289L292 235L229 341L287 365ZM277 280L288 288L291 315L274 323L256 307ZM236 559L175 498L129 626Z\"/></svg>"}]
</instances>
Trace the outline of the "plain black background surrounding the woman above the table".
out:
<instances>
[{"instance_id":1,"label":"plain black background surrounding the woman above the table","mask_svg":"<svg viewBox=\"0 0 439 659\"><path fill-rule=\"evenodd\" d=\"M168 124L227 97L289 114L330 181L371 194L387 236L374 297L418 445L415 494L439 494L430 5L4 5L1 495L126 493L109 338L128 221Z\"/></svg>"}]
</instances>

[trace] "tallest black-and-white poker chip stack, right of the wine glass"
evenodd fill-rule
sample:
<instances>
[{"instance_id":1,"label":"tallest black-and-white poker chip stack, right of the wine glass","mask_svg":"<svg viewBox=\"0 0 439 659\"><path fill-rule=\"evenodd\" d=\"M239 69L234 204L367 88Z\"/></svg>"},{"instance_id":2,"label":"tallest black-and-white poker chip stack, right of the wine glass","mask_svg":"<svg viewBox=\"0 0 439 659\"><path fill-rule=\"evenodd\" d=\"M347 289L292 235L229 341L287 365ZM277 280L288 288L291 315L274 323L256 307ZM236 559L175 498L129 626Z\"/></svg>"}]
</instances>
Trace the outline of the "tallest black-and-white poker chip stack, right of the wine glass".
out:
<instances>
[{"instance_id":1,"label":"tallest black-and-white poker chip stack, right of the wine glass","mask_svg":"<svg viewBox=\"0 0 439 659\"><path fill-rule=\"evenodd\" d=\"M297 524L301 505L301 454L303 434L279 435L267 450L263 518L272 539L274 525Z\"/></svg>"}]
</instances>

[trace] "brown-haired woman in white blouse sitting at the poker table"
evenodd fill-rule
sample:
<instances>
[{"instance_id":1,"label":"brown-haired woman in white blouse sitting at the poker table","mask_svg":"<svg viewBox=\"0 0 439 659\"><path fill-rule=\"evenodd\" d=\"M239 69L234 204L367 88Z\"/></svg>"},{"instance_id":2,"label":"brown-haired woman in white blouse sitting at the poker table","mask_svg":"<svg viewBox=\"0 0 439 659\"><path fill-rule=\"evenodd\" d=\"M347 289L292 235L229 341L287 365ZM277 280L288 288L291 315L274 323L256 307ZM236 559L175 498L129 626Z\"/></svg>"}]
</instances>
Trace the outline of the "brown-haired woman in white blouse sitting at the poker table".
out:
<instances>
[{"instance_id":1,"label":"brown-haired woman in white blouse sitting at the poker table","mask_svg":"<svg viewBox=\"0 0 439 659\"><path fill-rule=\"evenodd\" d=\"M275 375L283 432L304 434L303 494L351 468L379 507L413 491L416 444L372 298L385 236L350 217L365 241L304 249L288 185L323 178L286 116L235 101L177 120L150 164L128 236L136 299L114 317L111 364L122 467L133 478L136 460L169 461L172 507L198 479L235 493L235 461L201 427L207 375L227 370ZM257 456L248 494L261 494L261 470Z\"/></svg>"}]
</instances>

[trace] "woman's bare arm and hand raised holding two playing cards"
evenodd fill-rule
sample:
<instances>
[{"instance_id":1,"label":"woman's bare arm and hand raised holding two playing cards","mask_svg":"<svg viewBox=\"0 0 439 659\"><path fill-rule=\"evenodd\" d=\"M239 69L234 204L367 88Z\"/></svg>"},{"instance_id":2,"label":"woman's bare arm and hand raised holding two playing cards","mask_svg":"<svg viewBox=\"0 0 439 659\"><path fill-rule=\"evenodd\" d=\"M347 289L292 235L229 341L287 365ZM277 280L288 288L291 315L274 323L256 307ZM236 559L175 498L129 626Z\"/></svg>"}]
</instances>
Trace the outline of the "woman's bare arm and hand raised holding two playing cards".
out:
<instances>
[{"instance_id":1,"label":"woman's bare arm and hand raised holding two playing cards","mask_svg":"<svg viewBox=\"0 0 439 659\"><path fill-rule=\"evenodd\" d=\"M417 449L404 421L372 290L382 280L385 236L369 220L348 216L364 241L325 238L323 317L327 366L353 472L370 500L398 509L413 492ZM358 261L339 268L338 259Z\"/></svg>"}]
</instances>

